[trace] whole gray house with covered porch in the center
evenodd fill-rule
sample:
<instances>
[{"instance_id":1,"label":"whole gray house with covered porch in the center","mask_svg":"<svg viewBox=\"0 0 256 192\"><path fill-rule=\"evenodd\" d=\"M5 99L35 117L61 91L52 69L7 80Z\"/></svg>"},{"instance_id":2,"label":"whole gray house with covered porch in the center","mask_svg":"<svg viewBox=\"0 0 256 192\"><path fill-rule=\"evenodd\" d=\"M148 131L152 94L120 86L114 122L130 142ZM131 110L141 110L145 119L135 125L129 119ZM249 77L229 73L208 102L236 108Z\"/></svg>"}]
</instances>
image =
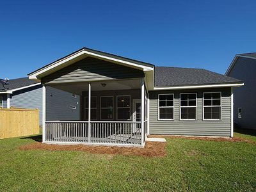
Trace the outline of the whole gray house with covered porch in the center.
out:
<instances>
[{"instance_id":1,"label":"whole gray house with covered porch in the center","mask_svg":"<svg viewBox=\"0 0 256 192\"><path fill-rule=\"evenodd\" d=\"M143 146L148 134L232 137L233 88L243 85L209 70L155 67L88 48L28 76L43 84L43 142L60 144ZM45 118L51 87L80 95L80 121Z\"/></svg>"}]
</instances>

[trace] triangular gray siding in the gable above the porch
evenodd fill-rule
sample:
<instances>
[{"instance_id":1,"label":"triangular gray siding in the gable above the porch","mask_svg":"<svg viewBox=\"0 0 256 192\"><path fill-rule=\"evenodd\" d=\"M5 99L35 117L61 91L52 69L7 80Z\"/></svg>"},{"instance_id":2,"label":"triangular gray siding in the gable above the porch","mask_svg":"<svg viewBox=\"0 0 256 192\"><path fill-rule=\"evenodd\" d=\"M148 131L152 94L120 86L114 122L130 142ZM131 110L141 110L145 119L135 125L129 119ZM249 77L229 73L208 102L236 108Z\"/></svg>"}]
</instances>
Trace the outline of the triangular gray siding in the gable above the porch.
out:
<instances>
[{"instance_id":1,"label":"triangular gray siding in the gable above the porch","mask_svg":"<svg viewBox=\"0 0 256 192\"><path fill-rule=\"evenodd\" d=\"M144 77L142 70L124 67L95 58L85 58L42 78L42 83L106 81Z\"/></svg>"}]
</instances>

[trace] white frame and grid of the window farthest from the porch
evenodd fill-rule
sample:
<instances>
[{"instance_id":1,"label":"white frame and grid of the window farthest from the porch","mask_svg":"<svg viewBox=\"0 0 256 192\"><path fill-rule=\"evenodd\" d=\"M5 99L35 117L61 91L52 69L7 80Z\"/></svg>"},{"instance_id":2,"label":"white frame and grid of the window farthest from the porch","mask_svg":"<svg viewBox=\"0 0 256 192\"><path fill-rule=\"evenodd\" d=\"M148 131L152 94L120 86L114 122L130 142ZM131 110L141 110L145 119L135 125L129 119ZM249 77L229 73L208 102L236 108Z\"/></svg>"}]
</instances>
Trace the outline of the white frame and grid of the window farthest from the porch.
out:
<instances>
[{"instance_id":1,"label":"white frame and grid of the window farthest from the porch","mask_svg":"<svg viewBox=\"0 0 256 192\"><path fill-rule=\"evenodd\" d=\"M205 95L211 94L211 98L206 97ZM213 98L213 94L215 94ZM216 94L219 95L219 98L216 98ZM211 104L205 105L205 101L211 101ZM220 101L220 104L216 104L216 101ZM211 112L205 113L205 108L211 109ZM218 112L215 111L218 109ZM205 118L205 114L211 114L211 118ZM218 115L220 118L214 118L214 115ZM203 120L221 120L221 92L205 92L203 93Z\"/></svg>"}]
</instances>

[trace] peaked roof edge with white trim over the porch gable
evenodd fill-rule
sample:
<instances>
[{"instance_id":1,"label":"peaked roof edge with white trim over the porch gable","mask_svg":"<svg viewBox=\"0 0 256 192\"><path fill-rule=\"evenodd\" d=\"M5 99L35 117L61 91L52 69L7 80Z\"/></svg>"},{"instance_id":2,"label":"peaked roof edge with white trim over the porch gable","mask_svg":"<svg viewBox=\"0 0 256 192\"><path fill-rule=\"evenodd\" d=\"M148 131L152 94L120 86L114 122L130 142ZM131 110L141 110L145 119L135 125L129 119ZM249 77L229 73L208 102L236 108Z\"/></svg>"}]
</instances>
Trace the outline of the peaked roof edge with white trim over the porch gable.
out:
<instances>
[{"instance_id":1,"label":"peaked roof edge with white trim over the porch gable","mask_svg":"<svg viewBox=\"0 0 256 192\"><path fill-rule=\"evenodd\" d=\"M28 76L31 77L31 79L36 79L36 76L38 74L42 74L44 72L47 72L47 70L52 70L54 68L60 69L60 65L63 65L63 67L67 67L67 65L72 64L71 60L74 60L76 62L77 60L80 60L81 58L84 58L85 56L93 56L95 58L100 58L102 60L108 60L113 61L114 63L122 63L124 65L129 65L130 67L136 67L141 68L143 70L153 70L154 65L150 63L146 63L143 61L133 60L130 58L125 58L123 56L117 56L115 54L111 54L108 52L102 52L97 51L94 49L89 49L87 47L83 47L82 49L79 49L75 52L72 52L71 54L68 54L67 56L64 56L63 58L60 58L59 60L53 61L52 63L49 63L48 65L45 65L44 67L38 68L38 70L35 70L28 74Z\"/></svg>"}]
</instances>

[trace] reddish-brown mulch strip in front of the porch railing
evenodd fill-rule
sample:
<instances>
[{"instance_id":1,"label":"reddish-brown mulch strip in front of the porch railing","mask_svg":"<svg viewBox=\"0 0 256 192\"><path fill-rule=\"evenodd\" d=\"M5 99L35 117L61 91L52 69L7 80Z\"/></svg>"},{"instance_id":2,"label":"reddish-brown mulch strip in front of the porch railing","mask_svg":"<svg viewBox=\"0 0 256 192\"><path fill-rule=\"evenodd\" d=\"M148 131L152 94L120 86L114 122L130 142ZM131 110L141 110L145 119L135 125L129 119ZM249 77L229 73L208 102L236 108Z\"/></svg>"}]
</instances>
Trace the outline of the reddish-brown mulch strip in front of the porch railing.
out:
<instances>
[{"instance_id":1,"label":"reddish-brown mulch strip in front of the porch railing","mask_svg":"<svg viewBox=\"0 0 256 192\"><path fill-rule=\"evenodd\" d=\"M76 150L92 154L121 154L124 156L164 157L166 156L166 142L146 141L144 148L139 147L109 147L92 145L51 145L41 142L31 143L19 147L20 150Z\"/></svg>"}]
</instances>

